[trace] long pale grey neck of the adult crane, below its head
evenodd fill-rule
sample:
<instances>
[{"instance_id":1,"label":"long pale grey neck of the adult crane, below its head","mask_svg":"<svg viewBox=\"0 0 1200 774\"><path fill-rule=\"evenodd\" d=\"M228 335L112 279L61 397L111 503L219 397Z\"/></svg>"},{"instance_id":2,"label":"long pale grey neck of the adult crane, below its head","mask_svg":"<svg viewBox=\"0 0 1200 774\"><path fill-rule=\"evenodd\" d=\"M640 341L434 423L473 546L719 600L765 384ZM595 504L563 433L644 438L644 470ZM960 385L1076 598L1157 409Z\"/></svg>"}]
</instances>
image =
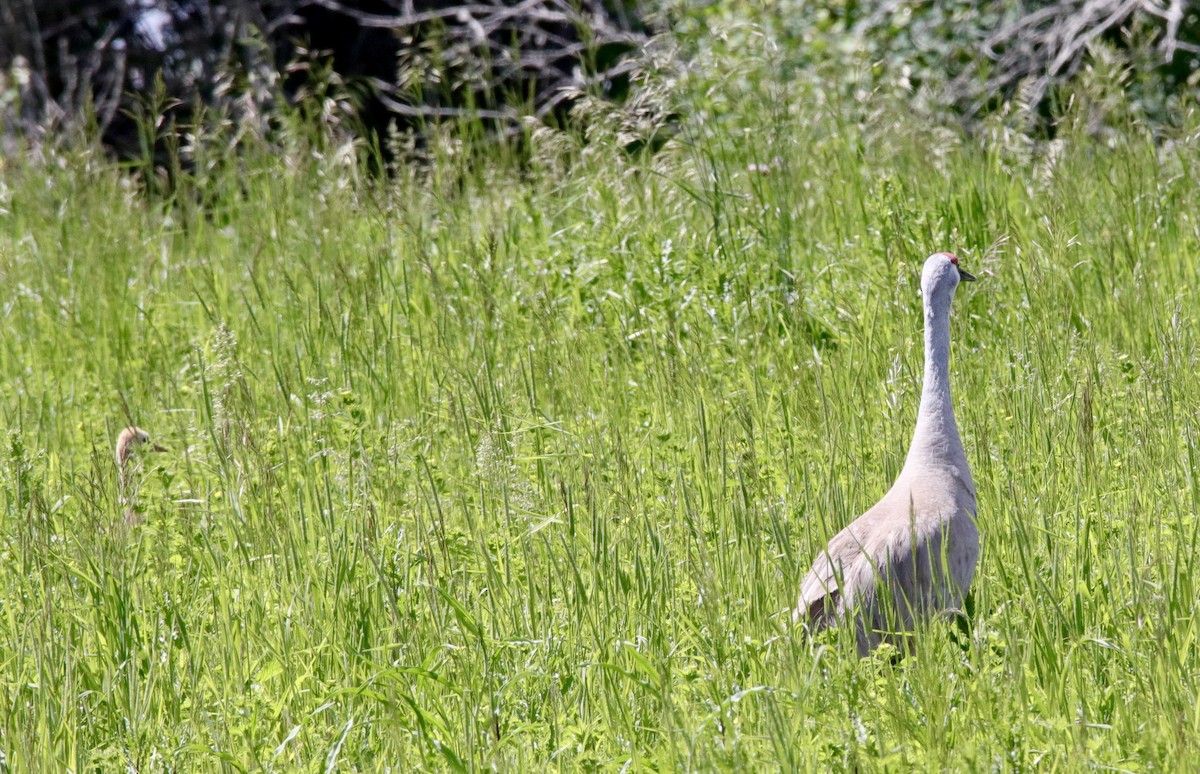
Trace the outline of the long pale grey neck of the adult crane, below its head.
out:
<instances>
[{"instance_id":1,"label":"long pale grey neck of the adult crane, below its head","mask_svg":"<svg viewBox=\"0 0 1200 774\"><path fill-rule=\"evenodd\" d=\"M950 298L925 300L925 379L905 468L965 460L950 403Z\"/></svg>"}]
</instances>

